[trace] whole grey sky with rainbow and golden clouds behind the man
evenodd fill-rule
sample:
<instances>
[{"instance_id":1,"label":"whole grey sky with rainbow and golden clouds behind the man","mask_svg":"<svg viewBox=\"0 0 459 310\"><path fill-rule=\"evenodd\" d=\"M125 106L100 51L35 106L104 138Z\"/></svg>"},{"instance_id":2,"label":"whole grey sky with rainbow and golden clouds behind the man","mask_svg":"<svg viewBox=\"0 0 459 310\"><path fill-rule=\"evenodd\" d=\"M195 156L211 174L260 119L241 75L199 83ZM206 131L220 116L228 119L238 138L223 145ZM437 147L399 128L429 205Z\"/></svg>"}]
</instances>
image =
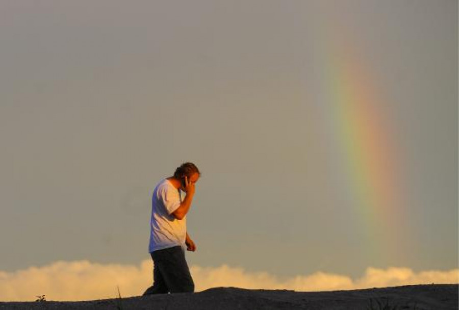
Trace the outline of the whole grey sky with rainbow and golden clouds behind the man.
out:
<instances>
[{"instance_id":1,"label":"whole grey sky with rainbow and golden clouds behind the man","mask_svg":"<svg viewBox=\"0 0 459 310\"><path fill-rule=\"evenodd\" d=\"M457 1L2 1L0 40L0 299L141 294L187 161L198 290L459 281Z\"/></svg>"}]
</instances>

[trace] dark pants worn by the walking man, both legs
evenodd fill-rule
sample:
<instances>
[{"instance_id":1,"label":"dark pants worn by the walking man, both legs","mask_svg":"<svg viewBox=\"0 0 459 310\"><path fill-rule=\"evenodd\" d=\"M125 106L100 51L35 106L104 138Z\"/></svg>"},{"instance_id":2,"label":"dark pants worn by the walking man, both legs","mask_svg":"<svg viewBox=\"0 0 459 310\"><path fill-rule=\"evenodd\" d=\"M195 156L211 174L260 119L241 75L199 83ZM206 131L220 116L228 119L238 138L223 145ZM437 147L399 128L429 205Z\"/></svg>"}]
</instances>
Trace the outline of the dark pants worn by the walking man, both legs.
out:
<instances>
[{"instance_id":1,"label":"dark pants worn by the walking man, both legs","mask_svg":"<svg viewBox=\"0 0 459 310\"><path fill-rule=\"evenodd\" d=\"M182 246L156 250L153 260L153 286L143 295L194 292L194 282L188 269Z\"/></svg>"}]
</instances>

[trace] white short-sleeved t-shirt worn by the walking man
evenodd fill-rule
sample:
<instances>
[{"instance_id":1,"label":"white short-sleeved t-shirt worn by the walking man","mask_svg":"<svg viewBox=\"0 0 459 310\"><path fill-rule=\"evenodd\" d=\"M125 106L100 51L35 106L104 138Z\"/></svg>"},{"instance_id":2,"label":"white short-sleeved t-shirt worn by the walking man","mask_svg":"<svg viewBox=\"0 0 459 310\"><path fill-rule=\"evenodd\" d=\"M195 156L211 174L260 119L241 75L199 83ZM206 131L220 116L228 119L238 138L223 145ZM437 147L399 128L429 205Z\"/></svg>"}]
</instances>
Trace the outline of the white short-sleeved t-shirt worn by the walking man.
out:
<instances>
[{"instance_id":1,"label":"white short-sleeved t-shirt worn by the walking man","mask_svg":"<svg viewBox=\"0 0 459 310\"><path fill-rule=\"evenodd\" d=\"M177 220L172 213L179 208L182 197L169 182L163 179L156 186L151 197L150 244L148 251L185 246L187 237L187 216Z\"/></svg>"}]
</instances>

